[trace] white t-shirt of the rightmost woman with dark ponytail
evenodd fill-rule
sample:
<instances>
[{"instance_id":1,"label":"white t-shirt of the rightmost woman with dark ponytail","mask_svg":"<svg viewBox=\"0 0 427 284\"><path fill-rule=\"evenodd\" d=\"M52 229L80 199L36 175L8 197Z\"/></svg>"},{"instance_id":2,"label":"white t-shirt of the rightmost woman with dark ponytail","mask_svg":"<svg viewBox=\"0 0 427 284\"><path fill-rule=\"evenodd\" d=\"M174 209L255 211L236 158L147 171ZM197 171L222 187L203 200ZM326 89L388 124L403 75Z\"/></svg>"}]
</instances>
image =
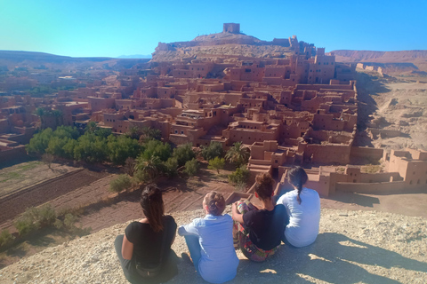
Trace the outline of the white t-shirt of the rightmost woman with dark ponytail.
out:
<instances>
[{"instance_id":1,"label":"white t-shirt of the rightmost woman with dark ponytail","mask_svg":"<svg viewBox=\"0 0 427 284\"><path fill-rule=\"evenodd\" d=\"M298 191L295 189L282 195L278 204L286 207L289 224L286 225L286 240L294 247L301 248L310 245L318 237L320 222L320 198L318 192L303 187L300 193L301 204L296 200Z\"/></svg>"}]
</instances>

